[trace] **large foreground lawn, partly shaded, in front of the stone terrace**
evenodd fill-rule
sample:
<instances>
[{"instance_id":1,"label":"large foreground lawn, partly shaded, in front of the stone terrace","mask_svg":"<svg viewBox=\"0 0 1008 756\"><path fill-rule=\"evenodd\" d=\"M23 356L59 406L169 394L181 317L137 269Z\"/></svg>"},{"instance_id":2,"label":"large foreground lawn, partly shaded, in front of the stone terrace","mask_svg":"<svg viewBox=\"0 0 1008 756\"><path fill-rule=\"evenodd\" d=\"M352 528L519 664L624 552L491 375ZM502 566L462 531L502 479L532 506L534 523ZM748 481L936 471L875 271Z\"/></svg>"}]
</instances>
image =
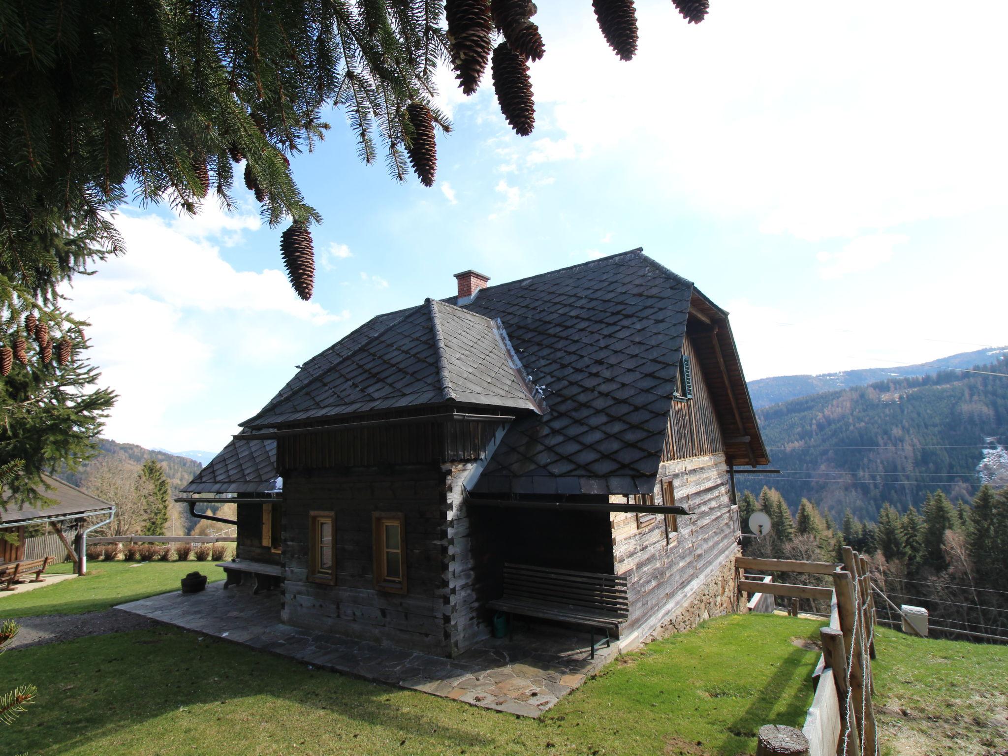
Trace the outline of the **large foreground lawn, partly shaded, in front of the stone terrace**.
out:
<instances>
[{"instance_id":1,"label":"large foreground lawn, partly shaded, in front of the stone terrace","mask_svg":"<svg viewBox=\"0 0 1008 756\"><path fill-rule=\"evenodd\" d=\"M4 750L735 756L755 751L761 725L801 726L818 654L795 642L817 638L820 624L711 620L624 656L538 721L167 627L80 638L0 660L8 685L39 688L37 705L5 728Z\"/></svg>"}]
</instances>

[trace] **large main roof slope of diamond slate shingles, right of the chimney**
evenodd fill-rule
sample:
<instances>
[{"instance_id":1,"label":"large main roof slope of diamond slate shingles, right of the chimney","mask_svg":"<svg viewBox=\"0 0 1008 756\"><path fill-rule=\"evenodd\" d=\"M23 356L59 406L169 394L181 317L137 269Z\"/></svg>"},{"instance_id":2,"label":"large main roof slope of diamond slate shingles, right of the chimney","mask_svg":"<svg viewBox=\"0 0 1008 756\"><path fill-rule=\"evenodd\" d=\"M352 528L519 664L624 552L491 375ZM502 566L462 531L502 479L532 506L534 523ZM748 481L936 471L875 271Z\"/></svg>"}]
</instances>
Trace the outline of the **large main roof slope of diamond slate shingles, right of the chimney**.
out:
<instances>
[{"instance_id":1,"label":"large main roof slope of diamond slate shingles, right of the chimney","mask_svg":"<svg viewBox=\"0 0 1008 756\"><path fill-rule=\"evenodd\" d=\"M640 250L491 286L549 411L515 419L477 492L651 493L692 284Z\"/></svg>"}]
</instances>

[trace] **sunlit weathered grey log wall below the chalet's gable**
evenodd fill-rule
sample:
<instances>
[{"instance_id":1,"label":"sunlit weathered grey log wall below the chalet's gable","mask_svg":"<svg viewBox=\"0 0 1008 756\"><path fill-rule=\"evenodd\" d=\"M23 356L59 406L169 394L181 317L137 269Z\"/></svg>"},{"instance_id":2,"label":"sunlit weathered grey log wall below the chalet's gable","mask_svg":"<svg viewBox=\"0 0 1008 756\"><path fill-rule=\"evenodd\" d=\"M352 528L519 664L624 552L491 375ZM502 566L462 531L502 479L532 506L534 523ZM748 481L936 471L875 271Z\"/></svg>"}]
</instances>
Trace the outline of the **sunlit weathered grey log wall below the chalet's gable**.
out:
<instances>
[{"instance_id":1,"label":"sunlit weathered grey log wall below the chalet's gable","mask_svg":"<svg viewBox=\"0 0 1008 756\"><path fill-rule=\"evenodd\" d=\"M657 628L738 548L724 455L662 463L656 504L663 503L661 481L668 476L673 479L675 504L692 514L678 516L679 531L667 543L663 517L638 528L633 513L610 516L615 572L627 578L629 588L630 620L624 636L643 637Z\"/></svg>"}]
</instances>

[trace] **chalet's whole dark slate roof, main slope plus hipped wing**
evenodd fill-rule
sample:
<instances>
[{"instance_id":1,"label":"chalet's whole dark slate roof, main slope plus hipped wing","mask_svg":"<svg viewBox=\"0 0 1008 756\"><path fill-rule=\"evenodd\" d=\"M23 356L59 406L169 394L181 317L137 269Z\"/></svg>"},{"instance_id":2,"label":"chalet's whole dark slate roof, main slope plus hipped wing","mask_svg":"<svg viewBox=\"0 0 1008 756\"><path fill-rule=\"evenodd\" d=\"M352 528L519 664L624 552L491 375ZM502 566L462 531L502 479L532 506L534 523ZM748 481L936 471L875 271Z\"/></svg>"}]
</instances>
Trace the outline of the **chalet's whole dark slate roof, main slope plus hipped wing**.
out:
<instances>
[{"instance_id":1,"label":"chalet's whole dark slate roof, main slope plus hipped wing","mask_svg":"<svg viewBox=\"0 0 1008 756\"><path fill-rule=\"evenodd\" d=\"M638 249L484 288L461 308L457 297L427 300L309 360L243 424L438 403L451 388L456 401L533 410L517 413L477 491L650 493L691 292ZM493 320L517 371L504 367ZM525 376L544 391L542 414Z\"/></svg>"}]
</instances>

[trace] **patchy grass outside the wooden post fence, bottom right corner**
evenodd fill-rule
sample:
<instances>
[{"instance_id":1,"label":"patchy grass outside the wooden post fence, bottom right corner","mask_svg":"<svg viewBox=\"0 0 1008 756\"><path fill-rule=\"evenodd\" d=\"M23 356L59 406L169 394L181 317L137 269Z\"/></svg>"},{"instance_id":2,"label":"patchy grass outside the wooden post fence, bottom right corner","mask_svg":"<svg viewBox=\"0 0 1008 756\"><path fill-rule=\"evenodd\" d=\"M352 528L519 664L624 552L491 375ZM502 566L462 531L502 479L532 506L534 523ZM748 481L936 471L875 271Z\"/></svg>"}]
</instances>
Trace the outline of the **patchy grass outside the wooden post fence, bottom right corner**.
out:
<instances>
[{"instance_id":1,"label":"patchy grass outside the wooden post fence, bottom right corner","mask_svg":"<svg viewBox=\"0 0 1008 756\"><path fill-rule=\"evenodd\" d=\"M883 754L1008 753L1008 647L876 628L875 650Z\"/></svg>"}]
</instances>

